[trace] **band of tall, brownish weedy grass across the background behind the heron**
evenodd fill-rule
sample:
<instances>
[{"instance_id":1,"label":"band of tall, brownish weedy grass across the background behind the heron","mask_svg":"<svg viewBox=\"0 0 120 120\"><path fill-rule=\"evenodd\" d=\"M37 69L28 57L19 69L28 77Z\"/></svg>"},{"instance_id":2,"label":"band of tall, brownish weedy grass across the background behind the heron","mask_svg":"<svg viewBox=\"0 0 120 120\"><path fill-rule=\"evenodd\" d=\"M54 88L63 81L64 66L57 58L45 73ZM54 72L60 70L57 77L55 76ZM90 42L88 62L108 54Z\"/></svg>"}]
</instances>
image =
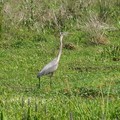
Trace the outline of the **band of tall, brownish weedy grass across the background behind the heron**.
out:
<instances>
[{"instance_id":1,"label":"band of tall, brownish weedy grass across the background behind the heron","mask_svg":"<svg viewBox=\"0 0 120 120\"><path fill-rule=\"evenodd\" d=\"M14 2L14 4L13 4ZM3 7L4 24L6 27L20 29L28 27L32 30L54 32L77 29L78 22L91 19L89 11L97 13L99 20L107 22L118 16L118 10L113 11L118 1L18 1L5 2ZM48 4L49 3L49 4ZM94 7L95 6L95 7ZM98 9L99 8L99 9ZM114 18L111 17L115 16Z\"/></svg>"}]
</instances>

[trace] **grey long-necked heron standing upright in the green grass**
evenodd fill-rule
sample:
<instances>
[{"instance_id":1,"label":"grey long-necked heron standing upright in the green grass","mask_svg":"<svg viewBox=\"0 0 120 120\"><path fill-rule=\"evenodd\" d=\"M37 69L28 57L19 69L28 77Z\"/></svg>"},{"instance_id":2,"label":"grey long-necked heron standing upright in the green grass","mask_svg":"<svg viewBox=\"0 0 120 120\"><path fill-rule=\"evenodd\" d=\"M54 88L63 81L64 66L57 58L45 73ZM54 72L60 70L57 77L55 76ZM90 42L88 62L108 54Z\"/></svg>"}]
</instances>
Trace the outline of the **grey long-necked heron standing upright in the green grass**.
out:
<instances>
[{"instance_id":1,"label":"grey long-necked heron standing upright in the green grass","mask_svg":"<svg viewBox=\"0 0 120 120\"><path fill-rule=\"evenodd\" d=\"M51 62L49 62L47 65L45 65L43 69L37 74L37 78L39 79L39 88L40 88L40 77L47 74L50 74L51 77L53 75L53 72L58 68L58 64L62 54L62 40L63 40L63 36L66 34L67 34L66 32L60 33L60 49L58 56L54 58ZM50 78L50 86L51 86L51 78Z\"/></svg>"}]
</instances>

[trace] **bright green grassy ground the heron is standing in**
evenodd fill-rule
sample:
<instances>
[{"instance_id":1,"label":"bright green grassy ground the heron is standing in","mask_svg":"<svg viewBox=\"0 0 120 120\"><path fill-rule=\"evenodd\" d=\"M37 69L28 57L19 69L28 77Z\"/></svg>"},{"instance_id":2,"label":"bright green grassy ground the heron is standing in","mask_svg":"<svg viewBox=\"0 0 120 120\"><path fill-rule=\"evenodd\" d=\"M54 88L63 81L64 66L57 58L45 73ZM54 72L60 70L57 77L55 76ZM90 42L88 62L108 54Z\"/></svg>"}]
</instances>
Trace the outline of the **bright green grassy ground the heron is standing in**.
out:
<instances>
[{"instance_id":1,"label":"bright green grassy ground the heron is standing in","mask_svg":"<svg viewBox=\"0 0 120 120\"><path fill-rule=\"evenodd\" d=\"M41 78L38 88L38 70L58 51L59 39L49 37L47 42L22 41L19 45L16 41L1 48L1 116L12 120L119 119L120 63L101 57L104 46L86 47L74 41L75 50L63 48L52 88L48 76ZM64 43L72 42L69 37Z\"/></svg>"}]
</instances>

